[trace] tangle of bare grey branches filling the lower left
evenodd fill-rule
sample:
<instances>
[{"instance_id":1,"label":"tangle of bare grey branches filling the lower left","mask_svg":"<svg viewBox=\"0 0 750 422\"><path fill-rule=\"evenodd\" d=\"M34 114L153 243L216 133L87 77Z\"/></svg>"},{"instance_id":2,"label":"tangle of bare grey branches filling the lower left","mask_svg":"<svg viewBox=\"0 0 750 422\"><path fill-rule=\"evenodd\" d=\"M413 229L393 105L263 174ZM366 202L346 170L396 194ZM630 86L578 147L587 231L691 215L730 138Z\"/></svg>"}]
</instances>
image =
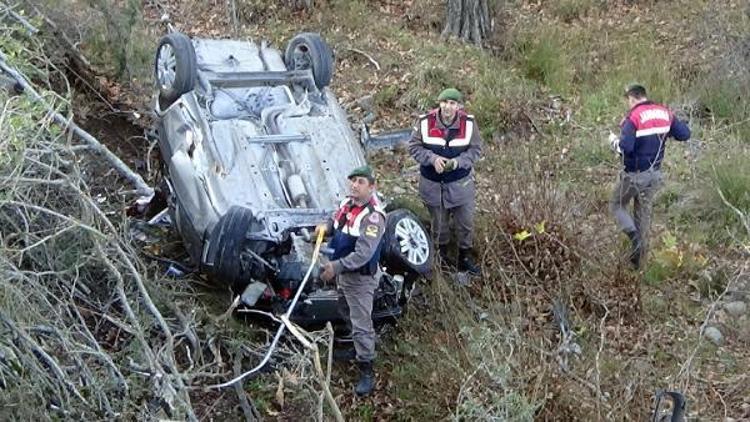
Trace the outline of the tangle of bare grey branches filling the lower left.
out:
<instances>
[{"instance_id":1,"label":"tangle of bare grey branches filling the lower left","mask_svg":"<svg viewBox=\"0 0 750 422\"><path fill-rule=\"evenodd\" d=\"M34 41L0 30L0 50L10 40L13 65L45 60ZM217 315L228 296L198 294L141 259L110 169L44 106L5 91L0 104L0 419L236 420L243 401L246 417L257 414L242 383L206 387L255 366L268 333ZM203 303L212 295L219 312ZM276 353L298 383L292 391L308 409L319 405L311 351L288 342Z\"/></svg>"}]
</instances>

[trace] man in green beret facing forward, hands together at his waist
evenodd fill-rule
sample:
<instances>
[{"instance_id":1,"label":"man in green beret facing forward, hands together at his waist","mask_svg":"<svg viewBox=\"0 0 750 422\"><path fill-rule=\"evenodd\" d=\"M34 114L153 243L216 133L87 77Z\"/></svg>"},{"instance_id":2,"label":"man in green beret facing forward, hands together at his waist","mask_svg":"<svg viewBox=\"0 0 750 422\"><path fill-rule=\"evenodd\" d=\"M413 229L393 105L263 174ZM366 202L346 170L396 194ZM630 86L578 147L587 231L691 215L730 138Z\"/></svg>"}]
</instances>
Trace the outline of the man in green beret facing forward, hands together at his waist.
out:
<instances>
[{"instance_id":1,"label":"man in green beret facing forward, hands together at his waist","mask_svg":"<svg viewBox=\"0 0 750 422\"><path fill-rule=\"evenodd\" d=\"M430 212L432 236L444 263L448 255L449 218L456 224L458 270L479 274L472 257L474 240L474 177L471 170L482 154L474 117L462 107L455 88L438 96L440 106L419 116L409 141L409 153L419 163L419 195Z\"/></svg>"}]
</instances>

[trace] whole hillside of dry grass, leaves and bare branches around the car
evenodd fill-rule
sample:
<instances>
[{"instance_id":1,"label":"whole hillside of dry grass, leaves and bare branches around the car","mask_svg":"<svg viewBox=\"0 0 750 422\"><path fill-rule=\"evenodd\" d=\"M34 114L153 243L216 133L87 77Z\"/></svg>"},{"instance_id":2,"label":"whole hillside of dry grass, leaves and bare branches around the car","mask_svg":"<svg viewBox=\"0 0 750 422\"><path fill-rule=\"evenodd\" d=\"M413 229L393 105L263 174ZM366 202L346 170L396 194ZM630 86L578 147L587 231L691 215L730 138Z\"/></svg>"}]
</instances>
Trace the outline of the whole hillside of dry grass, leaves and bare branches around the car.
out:
<instances>
[{"instance_id":1,"label":"whole hillside of dry grass, leaves and bare branches around the car","mask_svg":"<svg viewBox=\"0 0 750 422\"><path fill-rule=\"evenodd\" d=\"M484 275L469 287L439 275L420 286L380 335L373 397L355 398L354 368L334 365L347 420L646 420L659 390L683 392L689 420L750 418L744 2L496 0L481 49L440 37L436 0L321 0L299 11L276 0L31 3L40 10L17 10L44 34L8 17L0 50L153 185L158 163L143 133L165 14L189 35L276 46L320 32L354 127L373 117L374 131L409 127L443 87L466 94L485 142ZM63 53L71 45L88 63ZM608 210L621 163L606 137L634 81L693 131L667 148L641 271L627 266ZM132 188L38 104L0 95L0 417L317 414L311 356L293 341L244 391L205 388L252 366L266 329L228 317L228 291L197 275L170 279L145 259L184 252L168 232L134 235L141 225L124 212ZM368 159L384 194L425 215L404 199L416 198L418 176L405 151ZM46 408L22 405L32 400Z\"/></svg>"}]
</instances>

